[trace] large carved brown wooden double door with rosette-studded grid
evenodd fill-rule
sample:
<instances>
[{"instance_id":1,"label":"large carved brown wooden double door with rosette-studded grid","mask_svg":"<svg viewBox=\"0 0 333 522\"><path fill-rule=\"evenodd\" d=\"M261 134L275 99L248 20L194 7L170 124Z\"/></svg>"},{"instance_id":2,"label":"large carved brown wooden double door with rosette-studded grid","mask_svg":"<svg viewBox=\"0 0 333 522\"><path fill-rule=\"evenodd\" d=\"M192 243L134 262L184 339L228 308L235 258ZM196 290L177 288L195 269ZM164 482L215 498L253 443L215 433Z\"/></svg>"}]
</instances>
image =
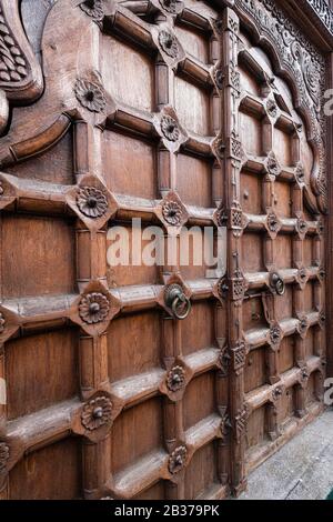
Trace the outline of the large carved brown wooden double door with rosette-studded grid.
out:
<instances>
[{"instance_id":1,"label":"large carved brown wooden double door with rosette-studded grid","mask_svg":"<svg viewBox=\"0 0 333 522\"><path fill-rule=\"evenodd\" d=\"M323 408L324 59L273 0L0 3L0 496L236 494Z\"/></svg>"}]
</instances>

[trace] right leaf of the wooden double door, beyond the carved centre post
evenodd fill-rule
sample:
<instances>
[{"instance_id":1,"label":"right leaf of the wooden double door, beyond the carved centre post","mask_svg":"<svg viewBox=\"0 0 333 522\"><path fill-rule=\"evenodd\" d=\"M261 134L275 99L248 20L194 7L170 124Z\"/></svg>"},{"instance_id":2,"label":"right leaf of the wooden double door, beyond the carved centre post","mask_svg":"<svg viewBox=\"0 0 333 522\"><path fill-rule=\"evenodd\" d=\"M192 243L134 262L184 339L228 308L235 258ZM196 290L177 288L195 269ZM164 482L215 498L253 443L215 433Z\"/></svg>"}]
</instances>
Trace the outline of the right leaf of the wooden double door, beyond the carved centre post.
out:
<instances>
[{"instance_id":1,"label":"right leaf of the wooden double door, beyond the carved centre post","mask_svg":"<svg viewBox=\"0 0 333 522\"><path fill-rule=\"evenodd\" d=\"M243 37L243 43L246 51L242 52L241 68L240 137L244 153L241 197L250 221L265 214L266 230L258 233L253 227L252 233L244 231L242 267L248 281L268 271L270 278L275 272L284 273L285 282L281 295L279 290L270 297L261 289L266 325L251 324L253 311L250 304L243 305L244 335L250 340L244 369L250 412L245 459L248 469L252 469L270 453L270 445L276 448L280 440L294 433L299 419L303 421L320 411L322 378L317 377L325 341L320 319L324 291L319 275L323 241L311 231L317 230L319 212L309 212L306 182L297 185L295 177L290 175L302 165L305 181L316 165L306 138L306 122L294 110L294 99L285 82L274 76L270 56L263 60L264 53L252 47L249 36ZM265 88L264 78L274 79L274 83L270 80L273 89ZM268 157L268 169L260 170L255 163ZM253 201L249 202L252 194ZM291 223L290 220L295 223L294 232L283 224ZM253 291L249 292L250 301L258 299L260 287L255 289L253 298ZM293 318L300 321L296 329L291 327Z\"/></svg>"}]
</instances>

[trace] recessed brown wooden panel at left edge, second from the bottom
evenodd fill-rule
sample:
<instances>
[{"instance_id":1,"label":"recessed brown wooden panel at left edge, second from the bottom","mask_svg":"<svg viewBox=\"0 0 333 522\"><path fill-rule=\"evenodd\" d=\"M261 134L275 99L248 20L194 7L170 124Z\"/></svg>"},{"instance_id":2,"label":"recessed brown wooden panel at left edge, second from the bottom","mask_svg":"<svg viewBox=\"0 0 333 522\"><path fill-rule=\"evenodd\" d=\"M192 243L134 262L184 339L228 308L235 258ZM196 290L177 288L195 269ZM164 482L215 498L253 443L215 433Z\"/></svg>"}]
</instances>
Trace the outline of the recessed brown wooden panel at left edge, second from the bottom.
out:
<instances>
[{"instance_id":1,"label":"recessed brown wooden panel at left edge, second from the bottom","mask_svg":"<svg viewBox=\"0 0 333 522\"><path fill-rule=\"evenodd\" d=\"M29 335L6 343L8 416L32 413L78 393L78 332Z\"/></svg>"}]
</instances>

